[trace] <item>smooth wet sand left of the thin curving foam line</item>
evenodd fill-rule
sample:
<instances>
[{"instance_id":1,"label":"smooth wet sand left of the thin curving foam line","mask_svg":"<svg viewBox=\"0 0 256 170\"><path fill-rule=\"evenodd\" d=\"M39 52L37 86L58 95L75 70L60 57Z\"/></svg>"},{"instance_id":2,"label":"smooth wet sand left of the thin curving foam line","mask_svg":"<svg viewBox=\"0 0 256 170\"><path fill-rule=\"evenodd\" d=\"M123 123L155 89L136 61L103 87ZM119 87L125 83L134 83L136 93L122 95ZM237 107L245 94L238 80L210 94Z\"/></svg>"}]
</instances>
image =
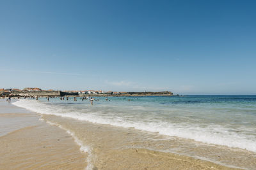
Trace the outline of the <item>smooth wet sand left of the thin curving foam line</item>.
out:
<instances>
[{"instance_id":1,"label":"smooth wet sand left of the thin curving foam line","mask_svg":"<svg viewBox=\"0 0 256 170\"><path fill-rule=\"evenodd\" d=\"M38 120L36 113L22 113L19 108L5 103L0 107L0 121L6 125L5 129L0 129L4 130L0 136L0 169L86 167L86 154L80 152L80 146L66 131Z\"/></svg>"}]
</instances>

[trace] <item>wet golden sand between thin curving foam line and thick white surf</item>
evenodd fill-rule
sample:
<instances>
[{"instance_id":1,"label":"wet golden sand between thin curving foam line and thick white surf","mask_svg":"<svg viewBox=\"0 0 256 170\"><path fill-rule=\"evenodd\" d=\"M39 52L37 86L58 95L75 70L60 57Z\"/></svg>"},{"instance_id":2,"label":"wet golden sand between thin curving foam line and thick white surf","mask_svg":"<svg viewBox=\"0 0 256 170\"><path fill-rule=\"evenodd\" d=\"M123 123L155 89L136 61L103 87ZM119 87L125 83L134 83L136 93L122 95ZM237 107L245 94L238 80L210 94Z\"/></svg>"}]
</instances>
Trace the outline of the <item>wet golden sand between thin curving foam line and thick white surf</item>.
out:
<instances>
[{"instance_id":1,"label":"wet golden sand between thin curving foam line and thick white surf","mask_svg":"<svg viewBox=\"0 0 256 170\"><path fill-rule=\"evenodd\" d=\"M136 129L92 124L54 115L43 115L42 118L61 125L83 141L90 148L88 164L95 169L232 169L186 155L150 150L148 146L159 145L162 136ZM154 139L156 143L152 143Z\"/></svg>"}]
</instances>

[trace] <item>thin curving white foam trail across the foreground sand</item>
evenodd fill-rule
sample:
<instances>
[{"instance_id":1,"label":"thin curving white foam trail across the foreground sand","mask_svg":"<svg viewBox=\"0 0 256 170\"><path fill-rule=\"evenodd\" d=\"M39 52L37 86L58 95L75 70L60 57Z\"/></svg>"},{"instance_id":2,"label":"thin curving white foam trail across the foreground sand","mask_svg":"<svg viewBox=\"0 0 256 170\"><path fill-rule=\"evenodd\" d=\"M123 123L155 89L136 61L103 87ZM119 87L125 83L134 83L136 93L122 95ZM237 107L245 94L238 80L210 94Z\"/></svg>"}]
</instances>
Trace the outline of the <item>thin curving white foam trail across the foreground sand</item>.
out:
<instances>
[{"instance_id":1,"label":"thin curving white foam trail across the foreground sand","mask_svg":"<svg viewBox=\"0 0 256 170\"><path fill-rule=\"evenodd\" d=\"M63 127L62 125L59 124L55 124L53 122L50 122L49 120L45 120L44 118L40 118L39 119L42 122L46 122L47 124L50 125L54 125L57 127L60 127L61 129L63 129L64 131L66 131L68 134L70 134L70 136L72 136L72 138L74 138L74 141L77 143L77 145L80 146L80 151L83 153L88 153L88 157L86 159L87 162L87 166L85 167L86 170L92 170L93 169L93 164L92 164L92 159L93 159L93 155L92 155L92 149L89 146L85 146L83 144L83 142L81 140L79 140L76 135L74 134L74 132L69 131L68 129L66 129L65 127Z\"/></svg>"}]
</instances>

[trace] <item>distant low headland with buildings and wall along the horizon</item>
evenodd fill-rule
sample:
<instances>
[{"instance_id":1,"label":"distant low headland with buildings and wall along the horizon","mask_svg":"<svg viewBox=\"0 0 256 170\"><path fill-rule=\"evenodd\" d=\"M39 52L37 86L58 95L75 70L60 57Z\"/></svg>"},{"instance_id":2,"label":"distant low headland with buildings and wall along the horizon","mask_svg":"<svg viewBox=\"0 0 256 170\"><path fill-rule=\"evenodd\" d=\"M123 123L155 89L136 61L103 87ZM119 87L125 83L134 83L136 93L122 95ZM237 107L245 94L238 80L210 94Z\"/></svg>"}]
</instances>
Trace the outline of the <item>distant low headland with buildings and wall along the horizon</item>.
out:
<instances>
[{"instance_id":1,"label":"distant low headland with buildings and wall along the horizon","mask_svg":"<svg viewBox=\"0 0 256 170\"><path fill-rule=\"evenodd\" d=\"M173 96L172 92L113 92L102 90L0 89L0 96Z\"/></svg>"}]
</instances>

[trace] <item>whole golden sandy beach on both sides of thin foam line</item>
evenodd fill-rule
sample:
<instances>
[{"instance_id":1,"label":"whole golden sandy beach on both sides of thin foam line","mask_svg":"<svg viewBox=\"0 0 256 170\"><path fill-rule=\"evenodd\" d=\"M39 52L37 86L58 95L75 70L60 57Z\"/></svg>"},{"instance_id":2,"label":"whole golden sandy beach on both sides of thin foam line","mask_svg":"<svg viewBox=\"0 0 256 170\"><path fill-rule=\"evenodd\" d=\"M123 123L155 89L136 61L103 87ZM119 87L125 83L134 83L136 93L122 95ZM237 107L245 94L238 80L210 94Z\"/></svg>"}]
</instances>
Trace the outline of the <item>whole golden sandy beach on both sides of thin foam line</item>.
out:
<instances>
[{"instance_id":1,"label":"whole golden sandy beach on both sides of thin foam line","mask_svg":"<svg viewBox=\"0 0 256 170\"><path fill-rule=\"evenodd\" d=\"M16 123L16 129L10 124L0 137L0 169L232 169L185 155L145 149L141 143L156 145L144 141L152 136L138 136L131 128L38 115L3 100L1 108L1 121L22 121L20 126Z\"/></svg>"}]
</instances>

